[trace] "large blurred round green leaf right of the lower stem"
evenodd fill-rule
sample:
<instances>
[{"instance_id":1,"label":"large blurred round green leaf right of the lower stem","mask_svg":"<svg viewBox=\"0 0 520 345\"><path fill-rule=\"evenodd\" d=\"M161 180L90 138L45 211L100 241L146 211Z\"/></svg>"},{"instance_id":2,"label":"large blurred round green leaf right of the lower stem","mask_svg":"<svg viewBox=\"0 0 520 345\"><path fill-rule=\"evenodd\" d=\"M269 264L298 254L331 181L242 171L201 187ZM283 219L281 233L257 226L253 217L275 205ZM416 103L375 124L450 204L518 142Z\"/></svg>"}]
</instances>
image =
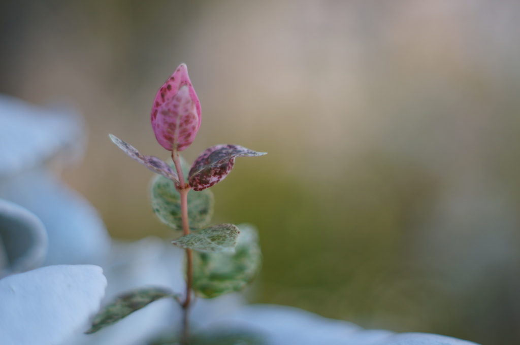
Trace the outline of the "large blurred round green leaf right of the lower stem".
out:
<instances>
[{"instance_id":1,"label":"large blurred round green leaf right of the lower stem","mask_svg":"<svg viewBox=\"0 0 520 345\"><path fill-rule=\"evenodd\" d=\"M243 289L257 275L262 264L258 236L252 225L238 226L235 253L193 253L193 281L195 293L214 298Z\"/></svg>"}]
</instances>

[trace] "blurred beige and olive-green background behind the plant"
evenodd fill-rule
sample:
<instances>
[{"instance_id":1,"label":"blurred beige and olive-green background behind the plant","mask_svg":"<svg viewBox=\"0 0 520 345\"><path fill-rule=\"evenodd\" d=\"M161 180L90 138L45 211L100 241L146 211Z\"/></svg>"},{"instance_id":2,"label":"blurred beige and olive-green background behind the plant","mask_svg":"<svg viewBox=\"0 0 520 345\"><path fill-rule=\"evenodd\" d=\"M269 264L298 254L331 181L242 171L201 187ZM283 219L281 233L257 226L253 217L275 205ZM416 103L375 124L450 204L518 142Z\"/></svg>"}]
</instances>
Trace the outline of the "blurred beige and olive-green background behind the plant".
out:
<instances>
[{"instance_id":1,"label":"blurred beige and olive-green background behind the plant","mask_svg":"<svg viewBox=\"0 0 520 345\"><path fill-rule=\"evenodd\" d=\"M191 161L239 158L215 222L257 225L255 302L364 327L520 343L520 2L0 2L0 92L72 102L89 126L63 178L116 238L173 234L149 125L186 62L202 104ZM1 124L0 124L1 125Z\"/></svg>"}]
</instances>

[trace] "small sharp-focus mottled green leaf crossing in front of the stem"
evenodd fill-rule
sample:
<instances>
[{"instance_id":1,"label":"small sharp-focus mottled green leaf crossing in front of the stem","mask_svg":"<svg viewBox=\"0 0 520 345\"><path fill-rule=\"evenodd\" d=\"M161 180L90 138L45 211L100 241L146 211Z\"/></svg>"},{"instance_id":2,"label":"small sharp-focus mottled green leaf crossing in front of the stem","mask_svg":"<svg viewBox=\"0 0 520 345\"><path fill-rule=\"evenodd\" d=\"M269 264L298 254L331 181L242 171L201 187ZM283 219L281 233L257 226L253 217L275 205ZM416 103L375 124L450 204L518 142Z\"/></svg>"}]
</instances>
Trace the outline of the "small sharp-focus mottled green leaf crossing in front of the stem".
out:
<instances>
[{"instance_id":1,"label":"small sharp-focus mottled green leaf crossing in front of the stem","mask_svg":"<svg viewBox=\"0 0 520 345\"><path fill-rule=\"evenodd\" d=\"M235 253L235 245L240 231L233 224L218 224L193 231L181 236L172 243L183 248L198 251Z\"/></svg>"}]
</instances>

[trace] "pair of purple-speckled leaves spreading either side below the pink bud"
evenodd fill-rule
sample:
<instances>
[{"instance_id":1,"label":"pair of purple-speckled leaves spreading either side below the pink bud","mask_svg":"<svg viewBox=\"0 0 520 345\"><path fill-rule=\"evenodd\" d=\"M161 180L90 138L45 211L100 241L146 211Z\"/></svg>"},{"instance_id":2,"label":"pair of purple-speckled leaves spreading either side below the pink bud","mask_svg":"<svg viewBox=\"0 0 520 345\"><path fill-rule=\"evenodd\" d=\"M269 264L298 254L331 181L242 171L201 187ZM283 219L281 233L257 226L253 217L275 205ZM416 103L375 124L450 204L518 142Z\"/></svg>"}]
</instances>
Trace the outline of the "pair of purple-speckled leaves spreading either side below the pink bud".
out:
<instances>
[{"instance_id":1,"label":"pair of purple-speckled leaves spreading either side below the pink bud","mask_svg":"<svg viewBox=\"0 0 520 345\"><path fill-rule=\"evenodd\" d=\"M166 162L154 156L144 156L131 144L114 135L109 135L113 143L128 156L141 163L156 174L179 183L175 170ZM194 191L202 191L215 183L222 181L235 165L236 157L262 156L266 152L255 152L239 145L215 145L204 152L193 162L188 174L188 183Z\"/></svg>"}]
</instances>

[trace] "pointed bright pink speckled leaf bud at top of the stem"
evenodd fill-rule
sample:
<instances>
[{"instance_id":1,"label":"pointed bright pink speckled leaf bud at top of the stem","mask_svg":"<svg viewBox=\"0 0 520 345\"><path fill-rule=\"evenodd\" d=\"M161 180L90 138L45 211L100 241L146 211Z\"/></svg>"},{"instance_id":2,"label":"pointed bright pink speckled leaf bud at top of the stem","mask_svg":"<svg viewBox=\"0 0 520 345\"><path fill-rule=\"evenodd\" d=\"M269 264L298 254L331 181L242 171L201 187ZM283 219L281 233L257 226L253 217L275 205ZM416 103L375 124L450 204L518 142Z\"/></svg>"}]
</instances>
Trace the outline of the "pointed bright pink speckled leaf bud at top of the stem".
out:
<instances>
[{"instance_id":1,"label":"pointed bright pink speckled leaf bud at top of the stem","mask_svg":"<svg viewBox=\"0 0 520 345\"><path fill-rule=\"evenodd\" d=\"M157 92L150 120L155 138L166 150L177 147L182 151L195 138L201 110L186 64L180 64Z\"/></svg>"}]
</instances>

